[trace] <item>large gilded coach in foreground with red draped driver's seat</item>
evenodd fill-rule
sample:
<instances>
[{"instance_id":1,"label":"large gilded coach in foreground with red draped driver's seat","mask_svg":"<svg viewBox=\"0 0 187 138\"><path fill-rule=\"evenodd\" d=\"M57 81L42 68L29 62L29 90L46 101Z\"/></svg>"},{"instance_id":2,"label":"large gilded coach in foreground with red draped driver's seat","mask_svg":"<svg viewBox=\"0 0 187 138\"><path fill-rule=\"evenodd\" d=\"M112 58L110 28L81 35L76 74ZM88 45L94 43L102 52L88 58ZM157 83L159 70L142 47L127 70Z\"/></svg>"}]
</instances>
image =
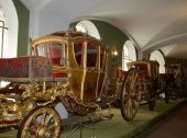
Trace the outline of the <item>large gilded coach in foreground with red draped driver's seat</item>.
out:
<instances>
[{"instance_id":1,"label":"large gilded coach in foreground with red draped driver's seat","mask_svg":"<svg viewBox=\"0 0 187 138\"><path fill-rule=\"evenodd\" d=\"M32 42L32 53L0 59L0 78L11 82L0 90L0 127L19 126L18 138L58 138L59 102L84 116L117 99L114 93L106 96L107 49L96 38L57 32Z\"/></svg>"}]
</instances>

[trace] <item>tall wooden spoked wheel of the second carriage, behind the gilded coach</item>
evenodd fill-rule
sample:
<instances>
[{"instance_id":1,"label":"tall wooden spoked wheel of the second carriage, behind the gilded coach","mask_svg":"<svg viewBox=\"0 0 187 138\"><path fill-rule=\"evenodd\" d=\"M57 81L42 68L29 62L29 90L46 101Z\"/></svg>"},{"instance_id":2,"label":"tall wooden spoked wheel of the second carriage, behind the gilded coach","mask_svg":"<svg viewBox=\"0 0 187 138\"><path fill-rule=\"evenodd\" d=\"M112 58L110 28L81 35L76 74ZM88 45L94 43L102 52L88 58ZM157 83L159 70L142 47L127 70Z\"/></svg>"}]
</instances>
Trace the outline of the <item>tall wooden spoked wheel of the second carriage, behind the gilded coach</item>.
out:
<instances>
[{"instance_id":1,"label":"tall wooden spoked wheel of the second carriage, behind the gilded coach","mask_svg":"<svg viewBox=\"0 0 187 138\"><path fill-rule=\"evenodd\" d=\"M132 120L140 106L140 73L138 69L131 69L127 74L121 89L121 114L125 120Z\"/></svg>"}]
</instances>

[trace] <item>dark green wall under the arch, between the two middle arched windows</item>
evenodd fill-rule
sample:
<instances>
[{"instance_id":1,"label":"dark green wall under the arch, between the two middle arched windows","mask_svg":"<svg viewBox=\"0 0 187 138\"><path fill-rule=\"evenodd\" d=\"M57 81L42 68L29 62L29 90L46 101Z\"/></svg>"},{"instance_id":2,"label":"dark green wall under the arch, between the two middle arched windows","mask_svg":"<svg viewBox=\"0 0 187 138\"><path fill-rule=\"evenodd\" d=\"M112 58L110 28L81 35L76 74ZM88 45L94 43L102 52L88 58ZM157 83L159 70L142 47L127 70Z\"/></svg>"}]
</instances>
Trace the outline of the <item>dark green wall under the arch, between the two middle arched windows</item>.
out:
<instances>
[{"instance_id":1,"label":"dark green wall under the arch, between the two middle arched windows","mask_svg":"<svg viewBox=\"0 0 187 138\"><path fill-rule=\"evenodd\" d=\"M90 20L90 22L92 22L96 25L96 27L99 31L102 43L108 47L109 68L112 65L111 54L113 49L118 51L117 60L119 67L121 67L123 44L127 39L129 39L128 36L124 33L122 33L119 28L117 28L116 26L109 23L102 21L96 21L96 20ZM70 24L70 27L75 26L77 22Z\"/></svg>"}]
</instances>

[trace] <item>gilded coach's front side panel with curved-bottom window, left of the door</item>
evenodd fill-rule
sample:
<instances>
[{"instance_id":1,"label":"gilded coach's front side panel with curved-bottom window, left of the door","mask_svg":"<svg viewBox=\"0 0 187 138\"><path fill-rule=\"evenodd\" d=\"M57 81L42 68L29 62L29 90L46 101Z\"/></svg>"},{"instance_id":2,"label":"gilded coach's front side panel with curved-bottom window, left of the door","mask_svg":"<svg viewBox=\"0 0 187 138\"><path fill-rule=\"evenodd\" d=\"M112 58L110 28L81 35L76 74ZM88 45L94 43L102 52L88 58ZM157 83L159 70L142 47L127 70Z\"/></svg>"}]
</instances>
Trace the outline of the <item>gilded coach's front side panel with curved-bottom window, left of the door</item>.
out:
<instances>
[{"instance_id":1,"label":"gilded coach's front side panel with curved-bottom window, left of the door","mask_svg":"<svg viewBox=\"0 0 187 138\"><path fill-rule=\"evenodd\" d=\"M84 95L84 83L85 83L85 43L84 42L74 42L68 44L69 53L68 60L70 67L70 78L69 84L74 94L82 100Z\"/></svg>"}]
</instances>

